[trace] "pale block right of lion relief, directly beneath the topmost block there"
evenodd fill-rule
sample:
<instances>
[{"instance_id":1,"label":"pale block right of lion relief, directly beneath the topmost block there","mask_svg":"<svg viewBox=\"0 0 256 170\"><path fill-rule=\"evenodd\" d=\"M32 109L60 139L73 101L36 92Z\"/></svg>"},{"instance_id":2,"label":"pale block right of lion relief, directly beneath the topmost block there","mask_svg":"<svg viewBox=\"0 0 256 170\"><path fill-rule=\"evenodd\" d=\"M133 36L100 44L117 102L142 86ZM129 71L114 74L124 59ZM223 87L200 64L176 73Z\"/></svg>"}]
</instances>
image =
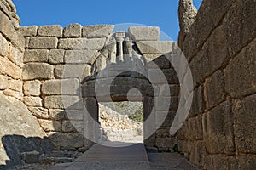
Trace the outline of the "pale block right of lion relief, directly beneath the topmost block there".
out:
<instances>
[{"instance_id":1,"label":"pale block right of lion relief, directly beneath the topmost block there","mask_svg":"<svg viewBox=\"0 0 256 170\"><path fill-rule=\"evenodd\" d=\"M166 54L172 51L173 42L142 41L137 42L137 48L143 54Z\"/></svg>"}]
</instances>

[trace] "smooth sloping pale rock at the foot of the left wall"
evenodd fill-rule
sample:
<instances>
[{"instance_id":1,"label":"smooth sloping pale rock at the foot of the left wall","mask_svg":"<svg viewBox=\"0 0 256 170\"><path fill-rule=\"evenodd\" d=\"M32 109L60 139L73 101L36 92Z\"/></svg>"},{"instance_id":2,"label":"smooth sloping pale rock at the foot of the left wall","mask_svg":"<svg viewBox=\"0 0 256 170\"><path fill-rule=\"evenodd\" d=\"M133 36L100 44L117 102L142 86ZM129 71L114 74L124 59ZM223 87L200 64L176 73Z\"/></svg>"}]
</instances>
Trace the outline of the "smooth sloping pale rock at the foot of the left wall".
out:
<instances>
[{"instance_id":1,"label":"smooth sloping pale rock at the foot of the left wall","mask_svg":"<svg viewBox=\"0 0 256 170\"><path fill-rule=\"evenodd\" d=\"M0 164L4 165L5 161L10 158L17 163L20 160L19 149L26 146L26 140L20 140L20 143L15 145L17 147L12 148L13 151L9 152L8 155L7 150L3 149L3 145L10 146L15 142L15 136L18 138L18 135L20 135L20 138L43 138L45 133L39 126L37 119L32 116L32 113L26 109L26 105L22 102L18 100L9 102L3 94L0 94L0 101L0 138L2 139L0 141ZM13 140L5 143L7 138L12 138Z\"/></svg>"}]
</instances>

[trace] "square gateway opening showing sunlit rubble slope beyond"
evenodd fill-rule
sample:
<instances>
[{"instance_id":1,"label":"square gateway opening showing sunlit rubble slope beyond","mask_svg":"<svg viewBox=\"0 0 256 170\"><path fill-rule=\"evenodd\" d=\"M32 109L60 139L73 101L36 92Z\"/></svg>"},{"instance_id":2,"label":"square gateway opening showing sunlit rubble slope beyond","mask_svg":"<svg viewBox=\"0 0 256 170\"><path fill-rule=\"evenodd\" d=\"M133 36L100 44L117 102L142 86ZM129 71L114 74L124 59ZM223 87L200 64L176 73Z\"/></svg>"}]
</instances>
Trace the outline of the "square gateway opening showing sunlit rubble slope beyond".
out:
<instances>
[{"instance_id":1,"label":"square gateway opening showing sunlit rubble slope beyond","mask_svg":"<svg viewBox=\"0 0 256 170\"><path fill-rule=\"evenodd\" d=\"M100 143L143 144L143 103L100 102Z\"/></svg>"}]
</instances>

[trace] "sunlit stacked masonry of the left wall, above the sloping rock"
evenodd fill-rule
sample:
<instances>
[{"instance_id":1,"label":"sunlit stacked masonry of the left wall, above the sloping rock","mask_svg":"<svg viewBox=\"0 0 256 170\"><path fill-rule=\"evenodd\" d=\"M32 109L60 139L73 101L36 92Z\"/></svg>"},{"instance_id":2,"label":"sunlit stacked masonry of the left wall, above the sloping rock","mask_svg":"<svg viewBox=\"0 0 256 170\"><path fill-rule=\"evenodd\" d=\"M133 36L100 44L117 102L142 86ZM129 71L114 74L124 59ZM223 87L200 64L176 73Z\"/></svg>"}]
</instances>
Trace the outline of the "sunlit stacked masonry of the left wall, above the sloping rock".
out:
<instances>
[{"instance_id":1,"label":"sunlit stacked masonry of the left wall, above the sloping rock","mask_svg":"<svg viewBox=\"0 0 256 170\"><path fill-rule=\"evenodd\" d=\"M24 37L17 31L20 19L11 1L0 2L0 92L22 100Z\"/></svg>"}]
</instances>

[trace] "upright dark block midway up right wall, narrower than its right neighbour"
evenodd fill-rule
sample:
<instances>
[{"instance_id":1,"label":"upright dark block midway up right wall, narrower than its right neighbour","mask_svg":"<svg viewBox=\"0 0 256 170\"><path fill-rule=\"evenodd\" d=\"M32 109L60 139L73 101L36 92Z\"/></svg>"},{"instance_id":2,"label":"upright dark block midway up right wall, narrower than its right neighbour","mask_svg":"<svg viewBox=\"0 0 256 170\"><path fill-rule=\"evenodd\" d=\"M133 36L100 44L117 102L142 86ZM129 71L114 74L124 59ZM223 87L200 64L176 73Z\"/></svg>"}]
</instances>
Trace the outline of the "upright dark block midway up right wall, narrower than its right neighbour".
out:
<instances>
[{"instance_id":1,"label":"upright dark block midway up right wall, narrower than its right neighbour","mask_svg":"<svg viewBox=\"0 0 256 170\"><path fill-rule=\"evenodd\" d=\"M216 71L212 77L209 77L205 84L207 108L218 105L225 99L225 82L222 71Z\"/></svg>"}]
</instances>

